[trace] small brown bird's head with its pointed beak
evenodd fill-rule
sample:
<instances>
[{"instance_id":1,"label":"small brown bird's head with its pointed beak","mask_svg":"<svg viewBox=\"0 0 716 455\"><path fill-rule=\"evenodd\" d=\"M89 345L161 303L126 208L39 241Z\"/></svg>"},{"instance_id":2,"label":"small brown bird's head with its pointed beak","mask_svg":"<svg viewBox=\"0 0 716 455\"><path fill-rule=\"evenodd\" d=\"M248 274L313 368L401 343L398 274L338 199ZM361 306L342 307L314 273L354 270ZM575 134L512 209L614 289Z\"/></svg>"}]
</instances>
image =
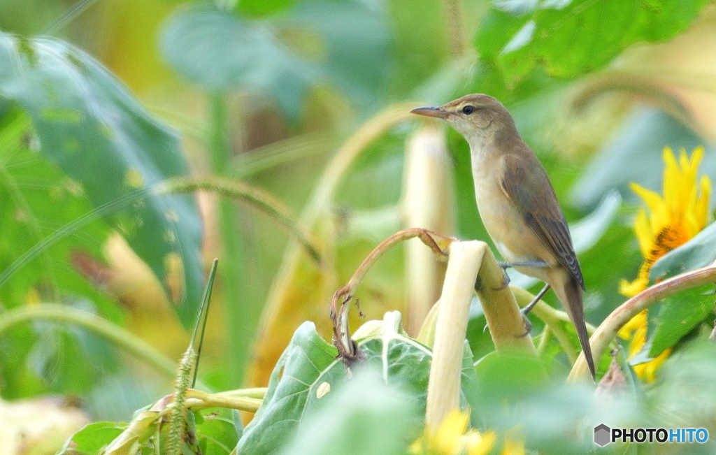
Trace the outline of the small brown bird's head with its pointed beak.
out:
<instances>
[{"instance_id":1,"label":"small brown bird's head with its pointed beak","mask_svg":"<svg viewBox=\"0 0 716 455\"><path fill-rule=\"evenodd\" d=\"M443 119L468 141L490 137L505 127L515 127L510 112L502 103L480 93L465 95L440 107L418 107L410 112Z\"/></svg>"}]
</instances>

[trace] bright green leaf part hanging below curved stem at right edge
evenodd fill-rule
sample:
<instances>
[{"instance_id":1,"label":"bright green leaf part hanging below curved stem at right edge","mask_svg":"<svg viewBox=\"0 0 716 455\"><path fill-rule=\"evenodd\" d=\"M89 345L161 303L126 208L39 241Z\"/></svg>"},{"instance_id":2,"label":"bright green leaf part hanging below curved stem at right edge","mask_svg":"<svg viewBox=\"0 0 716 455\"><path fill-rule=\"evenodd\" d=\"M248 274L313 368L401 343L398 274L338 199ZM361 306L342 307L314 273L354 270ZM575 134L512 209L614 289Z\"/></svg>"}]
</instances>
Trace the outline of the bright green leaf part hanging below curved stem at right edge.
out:
<instances>
[{"instance_id":1,"label":"bright green leaf part hanging below curved stem at right edge","mask_svg":"<svg viewBox=\"0 0 716 455\"><path fill-rule=\"evenodd\" d=\"M716 301L714 289L714 285L708 284L664 299L649 349L650 357L674 346L712 312Z\"/></svg>"}]
</instances>

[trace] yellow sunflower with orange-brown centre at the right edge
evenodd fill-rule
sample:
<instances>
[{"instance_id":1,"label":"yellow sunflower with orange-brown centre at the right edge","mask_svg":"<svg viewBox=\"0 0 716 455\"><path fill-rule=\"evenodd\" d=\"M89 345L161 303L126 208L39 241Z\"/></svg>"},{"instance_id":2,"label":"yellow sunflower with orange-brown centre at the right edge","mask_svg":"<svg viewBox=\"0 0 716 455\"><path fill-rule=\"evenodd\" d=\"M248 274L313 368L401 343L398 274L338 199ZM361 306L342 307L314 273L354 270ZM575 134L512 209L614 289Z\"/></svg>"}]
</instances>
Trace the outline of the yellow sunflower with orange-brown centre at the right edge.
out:
<instances>
[{"instance_id":1,"label":"yellow sunflower with orange-brown centre at the right edge","mask_svg":"<svg viewBox=\"0 0 716 455\"><path fill-rule=\"evenodd\" d=\"M654 263L669 251L692 239L706 225L709 217L711 181L703 175L699 180L697 170L704 156L703 147L697 147L689 159L681 150L677 161L669 147L664 148L663 197L652 190L632 183L632 190L642 198L647 209L642 208L634 222L634 232L644 263L637 279L629 283L621 280L619 292L633 297L649 285L649 271ZM629 358L642 351L647 342L647 312L634 316L619 331L619 336L629 340ZM654 372L669 357L671 349L651 361L634 366L642 381L654 381Z\"/></svg>"}]
</instances>

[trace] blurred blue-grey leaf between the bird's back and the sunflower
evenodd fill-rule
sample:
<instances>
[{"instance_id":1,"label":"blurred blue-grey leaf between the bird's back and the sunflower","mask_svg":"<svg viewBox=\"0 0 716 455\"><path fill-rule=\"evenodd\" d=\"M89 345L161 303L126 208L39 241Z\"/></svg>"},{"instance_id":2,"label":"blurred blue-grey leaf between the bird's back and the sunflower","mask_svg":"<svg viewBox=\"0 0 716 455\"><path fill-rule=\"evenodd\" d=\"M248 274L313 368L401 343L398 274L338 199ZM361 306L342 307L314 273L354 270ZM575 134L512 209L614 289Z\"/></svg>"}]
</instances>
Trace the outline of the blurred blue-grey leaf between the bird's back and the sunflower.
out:
<instances>
[{"instance_id":1,"label":"blurred blue-grey leaf between the bird's back and the sunflower","mask_svg":"<svg viewBox=\"0 0 716 455\"><path fill-rule=\"evenodd\" d=\"M606 193L617 190L627 201L636 201L629 182L661 193L664 147L674 152L684 148L689 155L705 140L674 117L657 109L635 109L621 131L596 153L584 174L574 185L571 200L581 207L592 207ZM705 147L700 172L716 173L716 150ZM624 163L639 163L625 166Z\"/></svg>"}]
</instances>

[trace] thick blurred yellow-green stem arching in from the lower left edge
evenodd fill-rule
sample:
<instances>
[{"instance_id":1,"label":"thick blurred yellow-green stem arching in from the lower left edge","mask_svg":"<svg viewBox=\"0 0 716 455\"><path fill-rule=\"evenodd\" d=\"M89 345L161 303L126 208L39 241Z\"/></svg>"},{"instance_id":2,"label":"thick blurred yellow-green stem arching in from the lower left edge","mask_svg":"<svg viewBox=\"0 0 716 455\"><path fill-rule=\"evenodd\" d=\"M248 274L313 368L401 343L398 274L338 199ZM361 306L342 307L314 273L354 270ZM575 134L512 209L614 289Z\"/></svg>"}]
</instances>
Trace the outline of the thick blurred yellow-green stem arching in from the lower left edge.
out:
<instances>
[{"instance_id":1,"label":"thick blurred yellow-green stem arching in from the lower left edge","mask_svg":"<svg viewBox=\"0 0 716 455\"><path fill-rule=\"evenodd\" d=\"M165 373L168 377L173 378L176 374L176 365L173 361L155 350L155 348L145 341L137 338L134 334L120 326L110 323L110 321L98 315L77 310L77 308L66 305L41 303L39 305L14 308L6 313L2 313L0 314L0 336L13 326L36 319L72 323L86 328L89 331L107 338L107 340L112 341L117 344L117 346L125 348L150 366Z\"/></svg>"}]
</instances>

